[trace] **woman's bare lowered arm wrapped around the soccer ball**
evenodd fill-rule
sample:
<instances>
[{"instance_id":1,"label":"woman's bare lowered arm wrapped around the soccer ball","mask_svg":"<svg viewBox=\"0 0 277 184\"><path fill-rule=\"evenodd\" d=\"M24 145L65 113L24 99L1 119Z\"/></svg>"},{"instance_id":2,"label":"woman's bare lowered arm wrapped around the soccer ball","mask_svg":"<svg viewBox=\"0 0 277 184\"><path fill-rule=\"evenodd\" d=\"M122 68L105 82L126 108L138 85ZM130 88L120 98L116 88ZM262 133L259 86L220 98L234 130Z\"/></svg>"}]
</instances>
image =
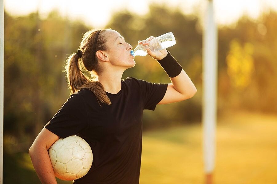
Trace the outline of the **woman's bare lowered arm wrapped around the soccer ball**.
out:
<instances>
[{"instance_id":1,"label":"woman's bare lowered arm wrapped around the soccer ball","mask_svg":"<svg viewBox=\"0 0 277 184\"><path fill-rule=\"evenodd\" d=\"M48 150L58 139L59 136L43 128L29 149L33 166L43 184L57 183Z\"/></svg>"}]
</instances>

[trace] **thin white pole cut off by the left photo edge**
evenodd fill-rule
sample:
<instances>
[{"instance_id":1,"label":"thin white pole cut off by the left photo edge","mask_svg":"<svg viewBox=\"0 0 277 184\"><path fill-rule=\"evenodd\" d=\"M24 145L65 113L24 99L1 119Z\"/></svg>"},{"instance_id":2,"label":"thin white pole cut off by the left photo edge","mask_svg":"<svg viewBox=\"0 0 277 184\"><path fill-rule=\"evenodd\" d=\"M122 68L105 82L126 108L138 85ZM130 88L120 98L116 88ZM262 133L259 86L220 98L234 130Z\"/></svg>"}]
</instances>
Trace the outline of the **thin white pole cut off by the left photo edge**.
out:
<instances>
[{"instance_id":1,"label":"thin white pole cut off by the left photo edge","mask_svg":"<svg viewBox=\"0 0 277 184\"><path fill-rule=\"evenodd\" d=\"M0 0L0 184L3 183L4 0Z\"/></svg>"}]
</instances>

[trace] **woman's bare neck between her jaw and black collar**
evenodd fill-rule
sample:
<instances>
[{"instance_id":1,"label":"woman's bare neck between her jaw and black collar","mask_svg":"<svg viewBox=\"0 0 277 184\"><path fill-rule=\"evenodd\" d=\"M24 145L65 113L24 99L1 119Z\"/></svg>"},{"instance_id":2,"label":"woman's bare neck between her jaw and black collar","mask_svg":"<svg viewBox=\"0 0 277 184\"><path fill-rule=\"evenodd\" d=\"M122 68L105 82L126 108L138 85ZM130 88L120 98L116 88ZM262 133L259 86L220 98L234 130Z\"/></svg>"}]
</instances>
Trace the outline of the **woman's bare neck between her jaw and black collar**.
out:
<instances>
[{"instance_id":1,"label":"woman's bare neck between her jaw and black collar","mask_svg":"<svg viewBox=\"0 0 277 184\"><path fill-rule=\"evenodd\" d=\"M122 74L123 71L112 72L105 70L98 76L98 80L106 92L117 94L121 90Z\"/></svg>"}]
</instances>

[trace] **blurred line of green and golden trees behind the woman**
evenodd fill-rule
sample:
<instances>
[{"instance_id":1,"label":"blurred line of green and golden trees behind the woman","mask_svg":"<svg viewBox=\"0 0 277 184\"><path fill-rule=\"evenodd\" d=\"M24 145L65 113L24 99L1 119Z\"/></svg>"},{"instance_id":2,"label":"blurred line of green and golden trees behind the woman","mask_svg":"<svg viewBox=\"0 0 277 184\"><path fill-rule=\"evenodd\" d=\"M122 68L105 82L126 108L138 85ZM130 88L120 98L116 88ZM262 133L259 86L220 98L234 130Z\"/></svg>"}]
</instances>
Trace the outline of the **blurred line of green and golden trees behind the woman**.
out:
<instances>
[{"instance_id":1,"label":"blurred line of green and golden trees behind the woman","mask_svg":"<svg viewBox=\"0 0 277 184\"><path fill-rule=\"evenodd\" d=\"M161 18L162 17L162 18ZM199 16L179 9L151 5L138 16L115 13L105 28L117 30L136 47L149 36L172 32L176 45L168 51L183 66L197 88L186 101L158 105L144 111L144 129L200 122L202 93L202 25ZM6 151L26 151L69 98L64 61L77 51L82 35L93 27L63 18L57 11L42 19L39 13L13 17L5 12L4 145ZM232 26L219 27L218 111L249 109L277 112L277 13L258 20L242 17ZM150 56L137 56L125 71L149 82L170 83Z\"/></svg>"}]
</instances>

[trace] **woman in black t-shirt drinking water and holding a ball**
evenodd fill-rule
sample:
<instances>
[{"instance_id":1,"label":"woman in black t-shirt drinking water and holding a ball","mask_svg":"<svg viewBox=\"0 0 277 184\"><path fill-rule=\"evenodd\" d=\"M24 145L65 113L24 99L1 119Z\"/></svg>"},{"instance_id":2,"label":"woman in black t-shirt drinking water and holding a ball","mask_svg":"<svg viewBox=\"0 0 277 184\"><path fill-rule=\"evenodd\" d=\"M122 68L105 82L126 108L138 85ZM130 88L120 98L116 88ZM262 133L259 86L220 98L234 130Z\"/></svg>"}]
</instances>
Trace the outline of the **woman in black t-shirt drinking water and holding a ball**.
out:
<instances>
[{"instance_id":1,"label":"woman in black t-shirt drinking water and holding a ball","mask_svg":"<svg viewBox=\"0 0 277 184\"><path fill-rule=\"evenodd\" d=\"M138 44L148 45L153 38L150 36ZM84 177L73 183L139 183L143 110L191 98L196 88L166 49L156 52L147 49L147 53L161 64L171 84L135 78L121 80L123 72L135 66L131 49L115 30L90 30L83 36L77 53L69 57L67 81L72 95L29 150L42 183L57 183L49 148L60 137L74 134L89 143L93 164ZM80 60L93 74L92 79L81 71Z\"/></svg>"}]
</instances>

